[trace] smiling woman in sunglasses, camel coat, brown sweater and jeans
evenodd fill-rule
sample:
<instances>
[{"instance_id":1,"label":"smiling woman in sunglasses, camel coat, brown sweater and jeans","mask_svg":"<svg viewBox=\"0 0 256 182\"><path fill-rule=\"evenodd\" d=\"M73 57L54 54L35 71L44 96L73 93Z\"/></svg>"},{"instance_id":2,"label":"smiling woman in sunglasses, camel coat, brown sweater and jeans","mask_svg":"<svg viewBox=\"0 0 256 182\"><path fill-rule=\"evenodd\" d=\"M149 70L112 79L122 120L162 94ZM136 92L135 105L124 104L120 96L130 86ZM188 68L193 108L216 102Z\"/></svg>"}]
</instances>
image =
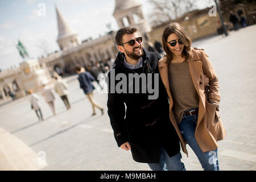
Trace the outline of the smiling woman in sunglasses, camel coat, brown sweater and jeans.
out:
<instances>
[{"instance_id":1,"label":"smiling woman in sunglasses, camel coat, brown sweater and jeans","mask_svg":"<svg viewBox=\"0 0 256 182\"><path fill-rule=\"evenodd\" d=\"M203 49L191 47L191 39L179 23L163 32L166 56L159 60L159 73L170 100L170 119L188 155L188 143L204 170L219 170L217 141L226 131L219 117L218 77ZM204 74L209 77L204 87Z\"/></svg>"}]
</instances>

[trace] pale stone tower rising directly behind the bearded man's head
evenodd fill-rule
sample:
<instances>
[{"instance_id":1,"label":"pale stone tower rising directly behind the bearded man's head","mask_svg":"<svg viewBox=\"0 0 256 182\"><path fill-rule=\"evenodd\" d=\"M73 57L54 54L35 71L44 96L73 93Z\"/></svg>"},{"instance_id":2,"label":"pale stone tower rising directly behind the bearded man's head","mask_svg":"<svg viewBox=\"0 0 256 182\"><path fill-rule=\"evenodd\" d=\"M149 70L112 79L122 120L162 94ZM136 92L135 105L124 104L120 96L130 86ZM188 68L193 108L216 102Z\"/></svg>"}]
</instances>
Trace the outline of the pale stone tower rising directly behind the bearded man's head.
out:
<instances>
[{"instance_id":1,"label":"pale stone tower rising directly behind the bearded man's head","mask_svg":"<svg viewBox=\"0 0 256 182\"><path fill-rule=\"evenodd\" d=\"M119 28L138 27L143 36L151 31L150 25L142 13L142 5L137 0L115 0L113 15Z\"/></svg>"}]
</instances>

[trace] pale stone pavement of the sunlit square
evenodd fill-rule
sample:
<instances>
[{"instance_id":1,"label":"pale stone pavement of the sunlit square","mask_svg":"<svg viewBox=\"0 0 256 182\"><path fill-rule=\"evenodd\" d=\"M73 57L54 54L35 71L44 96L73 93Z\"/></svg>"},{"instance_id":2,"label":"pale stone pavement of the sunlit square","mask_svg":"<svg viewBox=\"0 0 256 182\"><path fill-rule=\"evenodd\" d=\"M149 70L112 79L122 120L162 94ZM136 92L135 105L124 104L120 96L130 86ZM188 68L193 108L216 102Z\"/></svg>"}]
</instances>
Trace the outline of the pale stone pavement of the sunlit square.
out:
<instances>
[{"instance_id":1,"label":"pale stone pavement of the sunlit square","mask_svg":"<svg viewBox=\"0 0 256 182\"><path fill-rule=\"evenodd\" d=\"M220 114L227 131L226 138L218 142L221 170L256 170L255 32L256 26L250 26L231 32L228 37L214 36L193 43L208 53L219 78ZM41 170L150 170L147 164L134 162L130 151L117 147L106 113L106 94L94 91L94 98L105 107L105 114L101 115L97 110L97 115L91 117L92 108L79 88L76 77L65 78L72 105L70 110L65 109L56 95L57 115L53 117L40 97L46 118L44 122L38 122L27 97L0 106L1 170L10 169L5 168L7 163L11 163L11 169L17 169L16 166L22 162L16 161L20 159L26 159L28 164L31 155L46 159L47 166L42 166ZM3 138L3 133L10 137ZM196 155L189 146L187 148L189 158L182 153L186 169L202 170ZM31 155L24 155L27 151ZM7 156L9 154L11 160L3 159L3 152ZM18 154L20 159L17 158ZM42 154L45 154L44 158ZM31 159L30 164L35 164L35 160ZM38 168L28 167L24 163L19 169Z\"/></svg>"}]
</instances>

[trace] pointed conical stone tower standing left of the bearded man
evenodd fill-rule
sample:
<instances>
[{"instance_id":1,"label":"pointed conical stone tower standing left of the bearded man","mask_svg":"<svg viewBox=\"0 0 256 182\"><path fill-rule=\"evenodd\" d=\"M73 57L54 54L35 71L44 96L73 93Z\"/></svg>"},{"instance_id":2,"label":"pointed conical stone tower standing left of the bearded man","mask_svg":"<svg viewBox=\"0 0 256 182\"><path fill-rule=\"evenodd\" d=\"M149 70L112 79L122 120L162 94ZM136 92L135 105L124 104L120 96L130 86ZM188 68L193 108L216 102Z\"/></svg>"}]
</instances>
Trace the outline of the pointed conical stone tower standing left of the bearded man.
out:
<instances>
[{"instance_id":1,"label":"pointed conical stone tower standing left of the bearded man","mask_svg":"<svg viewBox=\"0 0 256 182\"><path fill-rule=\"evenodd\" d=\"M78 44L81 44L81 40L76 32L74 32L67 24L63 16L60 14L59 9L56 7L57 14L57 23L59 29L59 35L57 38L57 43L60 46L60 49L65 51L72 47L76 47Z\"/></svg>"}]
</instances>

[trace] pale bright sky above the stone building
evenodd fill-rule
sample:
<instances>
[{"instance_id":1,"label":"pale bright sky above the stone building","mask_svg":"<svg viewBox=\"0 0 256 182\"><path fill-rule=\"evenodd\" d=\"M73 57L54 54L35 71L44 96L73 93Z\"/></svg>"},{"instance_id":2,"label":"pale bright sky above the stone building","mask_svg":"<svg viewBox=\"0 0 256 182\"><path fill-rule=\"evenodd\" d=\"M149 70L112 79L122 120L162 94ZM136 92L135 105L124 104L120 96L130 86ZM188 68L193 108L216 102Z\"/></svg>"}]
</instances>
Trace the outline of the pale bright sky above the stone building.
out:
<instances>
[{"instance_id":1,"label":"pale bright sky above the stone building","mask_svg":"<svg viewBox=\"0 0 256 182\"><path fill-rule=\"evenodd\" d=\"M123 0L125 1L125 0ZM152 10L148 0L142 3L146 18ZM43 3L43 4L42 4ZM42 6L43 5L43 6ZM96 39L111 30L118 30L113 12L115 0L0 0L0 69L18 67L22 59L16 49L18 40L26 47L31 59L37 59L44 52L59 50L55 5L72 30L81 40ZM197 7L207 6L199 0ZM45 7L46 11L43 11ZM44 51L42 47L46 47Z\"/></svg>"}]
</instances>

